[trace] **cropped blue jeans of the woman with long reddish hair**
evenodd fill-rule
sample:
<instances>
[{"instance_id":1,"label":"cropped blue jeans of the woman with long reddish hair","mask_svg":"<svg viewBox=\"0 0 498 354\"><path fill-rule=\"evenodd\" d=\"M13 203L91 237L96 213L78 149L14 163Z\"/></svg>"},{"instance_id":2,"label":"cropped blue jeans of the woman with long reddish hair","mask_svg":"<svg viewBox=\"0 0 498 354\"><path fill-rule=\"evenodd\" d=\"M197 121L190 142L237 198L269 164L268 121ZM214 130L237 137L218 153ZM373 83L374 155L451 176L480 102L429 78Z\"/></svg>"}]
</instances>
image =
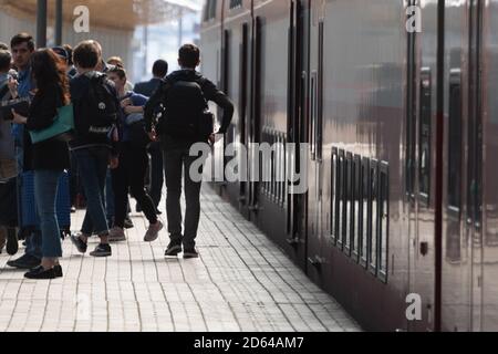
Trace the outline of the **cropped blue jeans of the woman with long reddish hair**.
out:
<instances>
[{"instance_id":1,"label":"cropped blue jeans of the woman with long reddish hair","mask_svg":"<svg viewBox=\"0 0 498 354\"><path fill-rule=\"evenodd\" d=\"M61 231L55 209L59 178L63 170L35 170L34 196L42 235L42 256L61 258Z\"/></svg>"}]
</instances>

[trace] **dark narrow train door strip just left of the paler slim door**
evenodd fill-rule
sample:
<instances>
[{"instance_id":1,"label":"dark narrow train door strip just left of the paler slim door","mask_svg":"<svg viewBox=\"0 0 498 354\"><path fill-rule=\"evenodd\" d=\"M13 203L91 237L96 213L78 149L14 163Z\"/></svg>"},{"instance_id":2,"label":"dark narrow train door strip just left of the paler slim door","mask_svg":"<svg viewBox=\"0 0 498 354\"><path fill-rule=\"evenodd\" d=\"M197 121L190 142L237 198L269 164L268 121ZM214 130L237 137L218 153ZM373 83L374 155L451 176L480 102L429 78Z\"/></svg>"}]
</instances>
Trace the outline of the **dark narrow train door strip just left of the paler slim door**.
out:
<instances>
[{"instance_id":1,"label":"dark narrow train door strip just left of the paler slim door","mask_svg":"<svg viewBox=\"0 0 498 354\"><path fill-rule=\"evenodd\" d=\"M288 136L295 144L292 174L307 174L307 160L301 160L302 143L308 143L309 127L309 45L310 0L290 1L289 28L289 102ZM293 179L294 176L291 176ZM292 185L292 181L290 181ZM297 183L299 184L299 181ZM292 187L292 186L290 186ZM292 188L289 188L292 190ZM294 249L298 262L307 267L308 192L288 196L288 243Z\"/></svg>"}]
</instances>

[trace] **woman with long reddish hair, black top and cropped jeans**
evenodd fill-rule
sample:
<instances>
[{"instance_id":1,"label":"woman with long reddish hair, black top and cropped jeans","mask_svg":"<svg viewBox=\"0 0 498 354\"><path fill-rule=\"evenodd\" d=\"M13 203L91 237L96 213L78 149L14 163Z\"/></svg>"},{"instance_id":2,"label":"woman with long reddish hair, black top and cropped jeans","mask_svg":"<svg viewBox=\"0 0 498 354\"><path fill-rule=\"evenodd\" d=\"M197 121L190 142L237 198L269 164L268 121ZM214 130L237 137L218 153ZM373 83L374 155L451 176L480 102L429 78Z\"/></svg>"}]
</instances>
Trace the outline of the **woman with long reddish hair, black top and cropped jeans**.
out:
<instances>
[{"instance_id":1,"label":"woman with long reddish hair, black top and cropped jeans","mask_svg":"<svg viewBox=\"0 0 498 354\"><path fill-rule=\"evenodd\" d=\"M15 112L14 123L25 124L28 131L50 127L58 108L70 103L66 64L52 50L41 49L31 56L31 72L35 82L35 95L28 117ZM54 279L62 277L59 259L62 257L60 229L55 212L59 178L70 168L68 144L49 139L31 144L25 138L24 170L34 171L34 195L40 217L43 259L41 266L25 274L29 279Z\"/></svg>"}]
</instances>

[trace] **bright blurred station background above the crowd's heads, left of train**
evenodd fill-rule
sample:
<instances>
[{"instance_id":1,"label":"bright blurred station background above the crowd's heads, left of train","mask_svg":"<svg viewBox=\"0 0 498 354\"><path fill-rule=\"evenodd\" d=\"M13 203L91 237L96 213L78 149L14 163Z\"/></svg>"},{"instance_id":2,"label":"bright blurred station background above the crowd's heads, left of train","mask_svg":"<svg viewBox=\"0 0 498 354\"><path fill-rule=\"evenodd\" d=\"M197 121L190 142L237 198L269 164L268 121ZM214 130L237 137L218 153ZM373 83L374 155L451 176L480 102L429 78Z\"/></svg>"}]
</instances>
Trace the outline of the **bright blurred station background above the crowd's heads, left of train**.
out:
<instances>
[{"instance_id":1,"label":"bright blurred station background above the crowd's heads, left of train","mask_svg":"<svg viewBox=\"0 0 498 354\"><path fill-rule=\"evenodd\" d=\"M148 80L155 60L177 67L180 43L198 43L204 0L0 0L0 42L19 32L38 35L40 14L46 12L46 46L85 39L102 43L104 59L124 60L133 82ZM77 7L89 10L89 32L76 33ZM40 8L41 7L41 8ZM41 17L43 21L43 17ZM58 23L62 22L61 27ZM43 23L42 23L43 24ZM43 27L45 28L45 27ZM60 28L58 32L58 28Z\"/></svg>"}]
</instances>

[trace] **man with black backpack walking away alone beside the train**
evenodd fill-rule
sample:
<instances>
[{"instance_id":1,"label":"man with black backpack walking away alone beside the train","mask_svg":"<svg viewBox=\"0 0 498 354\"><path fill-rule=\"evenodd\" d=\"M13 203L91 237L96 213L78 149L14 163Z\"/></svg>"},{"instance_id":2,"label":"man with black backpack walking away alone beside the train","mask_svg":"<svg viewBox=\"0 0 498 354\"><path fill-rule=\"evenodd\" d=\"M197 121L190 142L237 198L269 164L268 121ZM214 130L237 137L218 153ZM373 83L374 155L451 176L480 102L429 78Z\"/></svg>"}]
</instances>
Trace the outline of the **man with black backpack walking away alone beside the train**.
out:
<instances>
[{"instance_id":1,"label":"man with black backpack walking away alone beside the train","mask_svg":"<svg viewBox=\"0 0 498 354\"><path fill-rule=\"evenodd\" d=\"M145 106L146 129L153 139L159 135L164 150L164 168L167 188L167 218L170 243L166 257L176 257L184 251L184 258L198 258L196 249L200 218L201 181L189 175L190 166L198 159L190 156L196 143L212 139L212 118L209 124L207 101L224 110L221 128L226 134L234 116L234 104L225 93L196 71L200 64L200 51L194 44L179 50L178 64L181 70L168 75ZM153 129L154 113L163 104L165 116ZM210 125L210 128L209 128ZM181 232L181 176L185 168L186 215Z\"/></svg>"}]
</instances>

